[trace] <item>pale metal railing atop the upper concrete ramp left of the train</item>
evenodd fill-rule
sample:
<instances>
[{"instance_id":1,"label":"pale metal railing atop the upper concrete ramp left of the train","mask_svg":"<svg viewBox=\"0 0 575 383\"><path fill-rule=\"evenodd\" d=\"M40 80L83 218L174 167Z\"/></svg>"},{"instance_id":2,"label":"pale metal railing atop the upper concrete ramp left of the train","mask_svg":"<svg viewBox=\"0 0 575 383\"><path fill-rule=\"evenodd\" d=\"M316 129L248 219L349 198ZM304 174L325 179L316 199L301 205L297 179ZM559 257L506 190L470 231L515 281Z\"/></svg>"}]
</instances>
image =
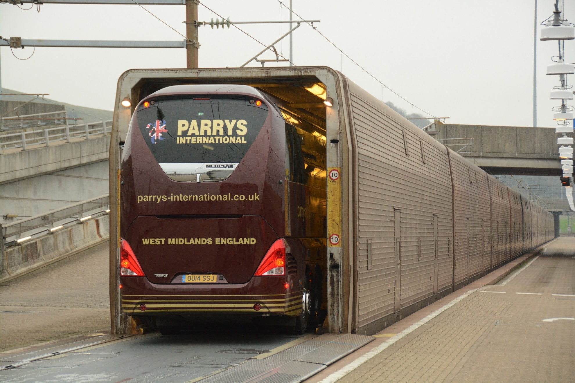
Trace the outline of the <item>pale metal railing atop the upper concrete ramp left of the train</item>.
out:
<instances>
[{"instance_id":1,"label":"pale metal railing atop the upper concrete ramp left of the train","mask_svg":"<svg viewBox=\"0 0 575 383\"><path fill-rule=\"evenodd\" d=\"M51 142L70 142L74 138L90 140L95 136L108 136L112 131L112 120L85 123L82 125L64 125L42 130L22 131L0 135L0 154L6 149L21 148L27 150L30 145L50 146Z\"/></svg>"}]
</instances>

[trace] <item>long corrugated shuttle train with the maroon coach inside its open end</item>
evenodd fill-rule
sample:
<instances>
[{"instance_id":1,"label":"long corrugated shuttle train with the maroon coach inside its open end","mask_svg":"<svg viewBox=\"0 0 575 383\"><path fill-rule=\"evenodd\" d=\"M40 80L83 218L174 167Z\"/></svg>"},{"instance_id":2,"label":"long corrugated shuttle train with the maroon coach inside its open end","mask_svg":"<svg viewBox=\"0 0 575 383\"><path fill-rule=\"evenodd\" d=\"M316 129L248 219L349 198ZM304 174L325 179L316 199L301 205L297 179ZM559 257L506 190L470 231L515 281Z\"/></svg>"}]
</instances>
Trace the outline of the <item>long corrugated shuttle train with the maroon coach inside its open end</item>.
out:
<instances>
[{"instance_id":1,"label":"long corrugated shuttle train with the maroon coach inside its open end","mask_svg":"<svg viewBox=\"0 0 575 383\"><path fill-rule=\"evenodd\" d=\"M110 170L116 332L373 334L554 235L549 212L327 67L127 71Z\"/></svg>"}]
</instances>

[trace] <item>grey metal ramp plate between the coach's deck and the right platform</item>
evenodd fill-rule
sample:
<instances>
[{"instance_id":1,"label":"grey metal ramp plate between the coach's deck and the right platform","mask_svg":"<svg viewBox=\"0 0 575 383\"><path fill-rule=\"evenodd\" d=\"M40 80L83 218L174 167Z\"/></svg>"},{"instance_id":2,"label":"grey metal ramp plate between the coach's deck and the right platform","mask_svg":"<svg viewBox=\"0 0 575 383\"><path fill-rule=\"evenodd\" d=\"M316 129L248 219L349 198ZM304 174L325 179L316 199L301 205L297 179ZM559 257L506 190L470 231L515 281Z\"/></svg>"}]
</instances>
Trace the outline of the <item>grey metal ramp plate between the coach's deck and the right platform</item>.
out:
<instances>
[{"instance_id":1,"label":"grey metal ramp plate between the coach's deck and the right platform","mask_svg":"<svg viewBox=\"0 0 575 383\"><path fill-rule=\"evenodd\" d=\"M324 334L265 359L252 359L201 383L298 383L373 341L373 336Z\"/></svg>"}]
</instances>

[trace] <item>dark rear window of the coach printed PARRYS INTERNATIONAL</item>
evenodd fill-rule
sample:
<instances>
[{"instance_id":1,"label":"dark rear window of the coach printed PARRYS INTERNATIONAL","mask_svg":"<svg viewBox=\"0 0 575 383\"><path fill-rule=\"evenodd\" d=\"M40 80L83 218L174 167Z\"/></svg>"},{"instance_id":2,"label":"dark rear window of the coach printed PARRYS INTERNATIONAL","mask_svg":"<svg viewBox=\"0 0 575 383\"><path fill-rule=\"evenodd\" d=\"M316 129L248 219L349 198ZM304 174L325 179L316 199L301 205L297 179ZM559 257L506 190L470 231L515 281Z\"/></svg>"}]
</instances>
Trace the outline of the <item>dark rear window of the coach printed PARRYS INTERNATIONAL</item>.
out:
<instances>
[{"instance_id":1,"label":"dark rear window of the coach printed PARRYS INTERNATIONAL","mask_svg":"<svg viewBox=\"0 0 575 383\"><path fill-rule=\"evenodd\" d=\"M249 99L156 100L141 105L138 125L158 163L239 163L267 117Z\"/></svg>"}]
</instances>

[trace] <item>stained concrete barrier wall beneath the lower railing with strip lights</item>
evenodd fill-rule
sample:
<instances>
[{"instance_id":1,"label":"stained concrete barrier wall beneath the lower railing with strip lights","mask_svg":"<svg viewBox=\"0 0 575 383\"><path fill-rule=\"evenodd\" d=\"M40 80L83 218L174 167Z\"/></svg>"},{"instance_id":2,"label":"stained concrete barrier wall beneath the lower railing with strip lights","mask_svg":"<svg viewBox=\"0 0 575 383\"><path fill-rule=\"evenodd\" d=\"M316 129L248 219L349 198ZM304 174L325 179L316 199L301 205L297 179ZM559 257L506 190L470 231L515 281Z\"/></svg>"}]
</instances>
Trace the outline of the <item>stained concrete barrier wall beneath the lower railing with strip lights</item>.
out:
<instances>
[{"instance_id":1,"label":"stained concrete barrier wall beneath the lower railing with strip lights","mask_svg":"<svg viewBox=\"0 0 575 383\"><path fill-rule=\"evenodd\" d=\"M0 262L3 266L3 270L0 270L0 282L104 242L109 238L109 228L109 216L103 215L78 225L65 227L55 234L46 234L22 245L9 247L2 254L4 259Z\"/></svg>"}]
</instances>

